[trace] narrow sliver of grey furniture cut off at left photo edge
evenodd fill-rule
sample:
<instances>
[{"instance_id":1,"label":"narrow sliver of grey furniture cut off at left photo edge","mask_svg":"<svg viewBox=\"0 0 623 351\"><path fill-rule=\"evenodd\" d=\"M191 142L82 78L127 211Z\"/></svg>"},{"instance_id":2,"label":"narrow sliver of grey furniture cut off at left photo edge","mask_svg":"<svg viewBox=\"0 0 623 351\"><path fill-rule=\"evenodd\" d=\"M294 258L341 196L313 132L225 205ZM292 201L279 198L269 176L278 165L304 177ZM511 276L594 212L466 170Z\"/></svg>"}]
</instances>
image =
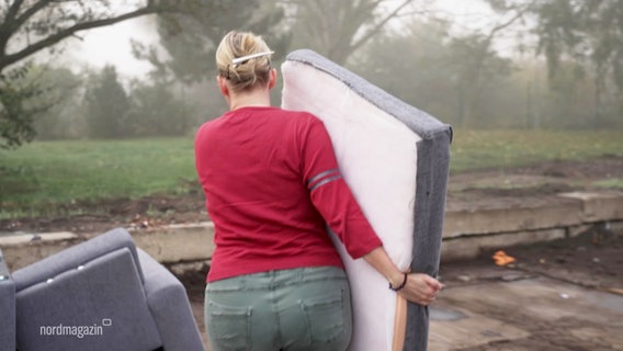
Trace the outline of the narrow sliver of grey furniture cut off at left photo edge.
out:
<instances>
[{"instance_id":1,"label":"narrow sliver of grey furniture cut off at left photo edge","mask_svg":"<svg viewBox=\"0 0 623 351\"><path fill-rule=\"evenodd\" d=\"M0 249L0 351L15 351L15 282Z\"/></svg>"}]
</instances>

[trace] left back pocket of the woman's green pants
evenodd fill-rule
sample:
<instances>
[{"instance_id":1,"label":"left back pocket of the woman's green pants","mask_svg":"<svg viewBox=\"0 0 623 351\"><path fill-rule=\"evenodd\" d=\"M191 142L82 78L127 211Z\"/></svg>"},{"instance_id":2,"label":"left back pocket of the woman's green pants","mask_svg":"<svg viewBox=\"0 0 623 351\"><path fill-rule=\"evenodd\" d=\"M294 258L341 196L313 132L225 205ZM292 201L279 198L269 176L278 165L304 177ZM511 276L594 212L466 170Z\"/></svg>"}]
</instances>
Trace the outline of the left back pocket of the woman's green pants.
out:
<instances>
[{"instance_id":1,"label":"left back pocket of the woman's green pants","mask_svg":"<svg viewBox=\"0 0 623 351\"><path fill-rule=\"evenodd\" d=\"M234 307L208 302L206 326L216 350L251 349L251 307Z\"/></svg>"}]
</instances>

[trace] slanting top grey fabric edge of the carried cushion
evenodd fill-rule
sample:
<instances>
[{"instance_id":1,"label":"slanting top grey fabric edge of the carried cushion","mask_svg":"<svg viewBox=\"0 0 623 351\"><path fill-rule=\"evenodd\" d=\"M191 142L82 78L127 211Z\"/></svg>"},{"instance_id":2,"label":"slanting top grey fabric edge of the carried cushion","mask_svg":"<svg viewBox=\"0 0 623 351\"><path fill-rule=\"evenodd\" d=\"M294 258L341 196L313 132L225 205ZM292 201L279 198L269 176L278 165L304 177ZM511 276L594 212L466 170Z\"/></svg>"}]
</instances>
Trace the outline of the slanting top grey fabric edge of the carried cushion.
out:
<instances>
[{"instance_id":1,"label":"slanting top grey fabric edge of the carried cushion","mask_svg":"<svg viewBox=\"0 0 623 351\"><path fill-rule=\"evenodd\" d=\"M430 114L407 104L360 76L310 49L298 49L292 52L286 56L286 60L310 65L314 68L342 81L363 99L393 115L396 120L403 122L422 139L429 139L437 133L450 128L449 125L441 123Z\"/></svg>"}]
</instances>

